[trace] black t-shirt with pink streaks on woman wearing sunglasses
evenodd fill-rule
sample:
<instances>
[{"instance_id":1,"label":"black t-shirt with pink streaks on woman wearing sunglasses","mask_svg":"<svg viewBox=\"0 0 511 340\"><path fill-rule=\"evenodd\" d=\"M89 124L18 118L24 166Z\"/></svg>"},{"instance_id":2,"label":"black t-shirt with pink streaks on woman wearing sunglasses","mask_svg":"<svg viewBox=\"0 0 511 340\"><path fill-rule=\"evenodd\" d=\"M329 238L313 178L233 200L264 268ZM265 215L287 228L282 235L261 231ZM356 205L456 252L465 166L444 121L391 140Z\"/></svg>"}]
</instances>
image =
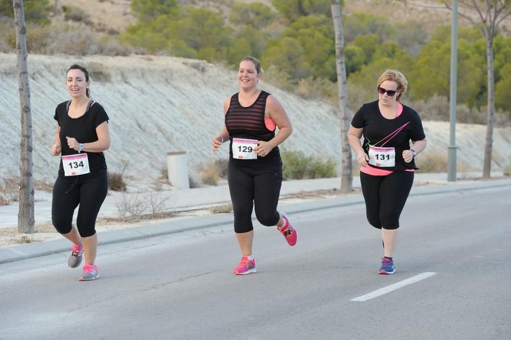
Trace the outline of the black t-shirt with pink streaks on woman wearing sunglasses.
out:
<instances>
[{"instance_id":1,"label":"black t-shirt with pink streaks on woman wearing sunglasses","mask_svg":"<svg viewBox=\"0 0 511 340\"><path fill-rule=\"evenodd\" d=\"M394 119L386 119L380 112L378 101L367 103L353 116L352 126L364 129L362 147L365 153L369 154L369 146L393 147L396 151L396 166L378 167L371 164L369 166L390 171L417 169L415 160L410 163L403 160L403 151L410 149L410 140L420 141L426 138L421 118L412 108L403 105L401 115ZM402 129L397 132L400 128Z\"/></svg>"}]
</instances>

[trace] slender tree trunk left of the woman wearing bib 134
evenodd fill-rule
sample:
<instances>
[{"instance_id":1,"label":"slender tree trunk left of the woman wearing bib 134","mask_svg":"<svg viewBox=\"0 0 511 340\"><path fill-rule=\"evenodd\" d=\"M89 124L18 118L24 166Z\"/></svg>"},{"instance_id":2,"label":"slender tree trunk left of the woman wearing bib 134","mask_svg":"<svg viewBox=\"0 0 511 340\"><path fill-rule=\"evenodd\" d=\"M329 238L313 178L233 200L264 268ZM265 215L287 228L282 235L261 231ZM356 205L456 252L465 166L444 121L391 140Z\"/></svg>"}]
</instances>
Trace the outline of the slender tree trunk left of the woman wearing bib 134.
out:
<instances>
[{"instance_id":1,"label":"slender tree trunk left of the woman wearing bib 134","mask_svg":"<svg viewBox=\"0 0 511 340\"><path fill-rule=\"evenodd\" d=\"M34 186L32 183L32 112L27 65L27 28L23 0L13 0L16 25L16 55L19 72L19 104L21 108L21 143L19 162L18 232L34 233Z\"/></svg>"}]
</instances>

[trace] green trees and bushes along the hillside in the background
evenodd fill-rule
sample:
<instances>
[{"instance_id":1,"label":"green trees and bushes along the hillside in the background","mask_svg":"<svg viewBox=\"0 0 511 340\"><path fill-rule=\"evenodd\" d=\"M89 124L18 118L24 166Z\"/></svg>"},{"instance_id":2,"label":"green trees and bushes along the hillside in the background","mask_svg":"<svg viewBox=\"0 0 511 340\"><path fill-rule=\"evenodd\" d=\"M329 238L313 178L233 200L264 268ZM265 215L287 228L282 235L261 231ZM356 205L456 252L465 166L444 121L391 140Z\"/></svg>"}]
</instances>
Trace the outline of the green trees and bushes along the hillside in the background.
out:
<instances>
[{"instance_id":1,"label":"green trees and bushes along the hillside in the background","mask_svg":"<svg viewBox=\"0 0 511 340\"><path fill-rule=\"evenodd\" d=\"M52 6L48 0L24 3L28 22L49 23ZM278 74L281 85L286 82L288 89L307 81L327 86L335 82L329 2L272 0L272 5L235 3L224 18L207 8L180 7L176 0L132 0L137 23L119 39L142 53L198 58L232 67L242 57L253 55ZM12 15L12 4L0 2L0 16ZM407 76L408 100L449 97L449 26L438 27L429 36L420 22L393 22L354 13L343 16L343 30L346 73L358 101L375 99L375 79L387 68L397 68ZM29 52L41 39L32 42L29 34ZM494 52L495 106L509 112L511 36L497 35ZM486 87L484 39L475 28L459 28L458 103L469 108L484 106Z\"/></svg>"}]
</instances>

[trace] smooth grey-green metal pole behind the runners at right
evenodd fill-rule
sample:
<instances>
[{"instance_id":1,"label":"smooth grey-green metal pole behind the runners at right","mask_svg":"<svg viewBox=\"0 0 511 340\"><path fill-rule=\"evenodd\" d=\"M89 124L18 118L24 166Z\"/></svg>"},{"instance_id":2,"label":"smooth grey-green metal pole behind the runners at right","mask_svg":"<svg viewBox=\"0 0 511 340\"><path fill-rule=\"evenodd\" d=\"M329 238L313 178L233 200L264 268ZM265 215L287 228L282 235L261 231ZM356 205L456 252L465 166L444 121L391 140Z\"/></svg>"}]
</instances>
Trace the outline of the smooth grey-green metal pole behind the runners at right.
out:
<instances>
[{"instance_id":1,"label":"smooth grey-green metal pole behind the runners at right","mask_svg":"<svg viewBox=\"0 0 511 340\"><path fill-rule=\"evenodd\" d=\"M452 0L451 20L451 102L450 102L450 140L447 156L447 180L456 181L456 77L458 65L458 0Z\"/></svg>"}]
</instances>

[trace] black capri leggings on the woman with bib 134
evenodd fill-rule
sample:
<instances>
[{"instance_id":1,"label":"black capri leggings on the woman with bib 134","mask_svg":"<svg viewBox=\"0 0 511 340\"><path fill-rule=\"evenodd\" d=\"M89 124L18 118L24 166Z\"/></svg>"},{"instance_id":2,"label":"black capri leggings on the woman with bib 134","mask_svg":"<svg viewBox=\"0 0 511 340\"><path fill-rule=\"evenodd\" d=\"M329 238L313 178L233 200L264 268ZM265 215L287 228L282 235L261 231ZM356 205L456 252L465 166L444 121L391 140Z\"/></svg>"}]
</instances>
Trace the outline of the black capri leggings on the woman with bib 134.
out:
<instances>
[{"instance_id":1,"label":"black capri leggings on the woman with bib 134","mask_svg":"<svg viewBox=\"0 0 511 340\"><path fill-rule=\"evenodd\" d=\"M59 175L53 187L52 222L60 234L71 232L78 205L76 226L81 237L96 234L96 218L108 191L106 171L76 177Z\"/></svg>"}]
</instances>

